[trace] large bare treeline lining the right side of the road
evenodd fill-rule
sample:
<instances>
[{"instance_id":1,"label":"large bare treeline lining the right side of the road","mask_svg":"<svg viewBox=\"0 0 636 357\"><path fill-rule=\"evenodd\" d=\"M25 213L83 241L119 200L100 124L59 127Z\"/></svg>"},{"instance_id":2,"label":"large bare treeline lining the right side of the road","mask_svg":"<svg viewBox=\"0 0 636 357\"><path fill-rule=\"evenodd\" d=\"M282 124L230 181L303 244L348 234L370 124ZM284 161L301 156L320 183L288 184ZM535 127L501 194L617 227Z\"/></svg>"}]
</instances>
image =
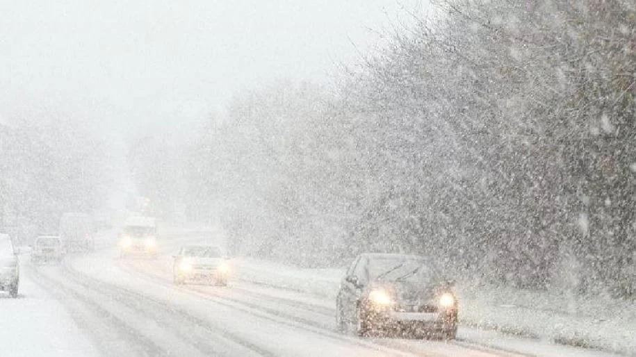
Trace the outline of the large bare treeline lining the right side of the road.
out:
<instances>
[{"instance_id":1,"label":"large bare treeline lining the right side of the road","mask_svg":"<svg viewBox=\"0 0 636 357\"><path fill-rule=\"evenodd\" d=\"M188 215L304 265L403 251L636 294L635 3L435 5L332 87L245 92L172 151Z\"/></svg>"}]
</instances>

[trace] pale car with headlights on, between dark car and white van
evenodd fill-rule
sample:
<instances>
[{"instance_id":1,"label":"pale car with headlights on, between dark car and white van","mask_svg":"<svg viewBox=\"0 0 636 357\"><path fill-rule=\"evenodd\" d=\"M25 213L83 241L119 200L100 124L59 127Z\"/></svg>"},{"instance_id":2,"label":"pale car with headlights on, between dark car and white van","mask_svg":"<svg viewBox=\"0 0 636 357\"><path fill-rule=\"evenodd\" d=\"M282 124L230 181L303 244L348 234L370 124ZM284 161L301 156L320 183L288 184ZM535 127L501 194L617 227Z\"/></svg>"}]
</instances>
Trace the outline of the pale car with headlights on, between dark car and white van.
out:
<instances>
[{"instance_id":1,"label":"pale car with headlights on, between dark car and white van","mask_svg":"<svg viewBox=\"0 0 636 357\"><path fill-rule=\"evenodd\" d=\"M173 256L172 274L175 284L186 282L227 285L229 264L219 247L187 245Z\"/></svg>"}]
</instances>

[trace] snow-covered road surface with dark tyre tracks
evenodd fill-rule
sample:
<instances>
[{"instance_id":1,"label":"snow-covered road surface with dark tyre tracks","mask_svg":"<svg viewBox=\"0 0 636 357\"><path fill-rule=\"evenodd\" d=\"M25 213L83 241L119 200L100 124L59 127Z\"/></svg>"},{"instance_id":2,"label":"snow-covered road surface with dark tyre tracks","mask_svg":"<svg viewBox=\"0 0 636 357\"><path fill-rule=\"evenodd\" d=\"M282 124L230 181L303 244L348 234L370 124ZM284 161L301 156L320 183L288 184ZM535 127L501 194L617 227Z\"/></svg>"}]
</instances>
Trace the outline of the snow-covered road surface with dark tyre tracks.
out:
<instances>
[{"instance_id":1,"label":"snow-covered road surface with dark tyre tracks","mask_svg":"<svg viewBox=\"0 0 636 357\"><path fill-rule=\"evenodd\" d=\"M11 304L33 305L30 299L42 294L60 313L42 319L50 335L34 336L37 342L31 345L16 335L17 347L11 351L22 343L31 351L22 356L37 356L34 349L49 343L40 339L63 335L67 349L60 351L69 353L56 356L92 356L98 351L104 356L603 355L468 328L460 329L459 340L452 342L357 338L334 331L333 301L316 294L250 283L240 274L227 288L174 285L170 255L184 242L202 239L172 235L163 241L163 254L156 260L120 259L110 247L70 257L60 266L23 263L23 279L37 285L23 285L26 298ZM36 317L28 315L36 311L19 310L27 315L22 330L31 329ZM3 338L11 338L10 332L3 333ZM2 351L0 356L5 356Z\"/></svg>"}]
</instances>

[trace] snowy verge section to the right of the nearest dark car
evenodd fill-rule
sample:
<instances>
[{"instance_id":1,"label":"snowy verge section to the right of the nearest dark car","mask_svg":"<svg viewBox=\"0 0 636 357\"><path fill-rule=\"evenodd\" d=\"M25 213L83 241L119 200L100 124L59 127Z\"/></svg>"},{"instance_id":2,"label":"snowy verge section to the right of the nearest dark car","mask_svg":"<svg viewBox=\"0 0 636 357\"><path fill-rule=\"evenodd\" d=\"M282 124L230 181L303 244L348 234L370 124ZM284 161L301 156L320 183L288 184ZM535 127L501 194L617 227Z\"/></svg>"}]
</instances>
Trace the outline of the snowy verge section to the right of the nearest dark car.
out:
<instances>
[{"instance_id":1,"label":"snowy verge section to the right of the nearest dark car","mask_svg":"<svg viewBox=\"0 0 636 357\"><path fill-rule=\"evenodd\" d=\"M464 287L460 293L464 324L636 356L633 302L505 287Z\"/></svg>"}]
</instances>

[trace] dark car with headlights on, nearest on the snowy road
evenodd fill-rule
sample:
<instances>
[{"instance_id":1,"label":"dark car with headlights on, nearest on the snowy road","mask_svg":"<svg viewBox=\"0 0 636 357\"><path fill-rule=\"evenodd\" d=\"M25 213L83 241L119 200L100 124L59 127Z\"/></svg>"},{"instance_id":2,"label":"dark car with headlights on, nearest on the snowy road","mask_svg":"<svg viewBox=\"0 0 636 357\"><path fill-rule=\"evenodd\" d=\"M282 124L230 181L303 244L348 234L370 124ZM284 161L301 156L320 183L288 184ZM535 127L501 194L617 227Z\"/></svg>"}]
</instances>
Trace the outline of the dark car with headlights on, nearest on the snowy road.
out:
<instances>
[{"instance_id":1,"label":"dark car with headlights on, nearest on the snowy road","mask_svg":"<svg viewBox=\"0 0 636 357\"><path fill-rule=\"evenodd\" d=\"M422 256L361 254L336 297L336 325L368 336L393 332L454 339L459 306L452 281Z\"/></svg>"}]
</instances>

